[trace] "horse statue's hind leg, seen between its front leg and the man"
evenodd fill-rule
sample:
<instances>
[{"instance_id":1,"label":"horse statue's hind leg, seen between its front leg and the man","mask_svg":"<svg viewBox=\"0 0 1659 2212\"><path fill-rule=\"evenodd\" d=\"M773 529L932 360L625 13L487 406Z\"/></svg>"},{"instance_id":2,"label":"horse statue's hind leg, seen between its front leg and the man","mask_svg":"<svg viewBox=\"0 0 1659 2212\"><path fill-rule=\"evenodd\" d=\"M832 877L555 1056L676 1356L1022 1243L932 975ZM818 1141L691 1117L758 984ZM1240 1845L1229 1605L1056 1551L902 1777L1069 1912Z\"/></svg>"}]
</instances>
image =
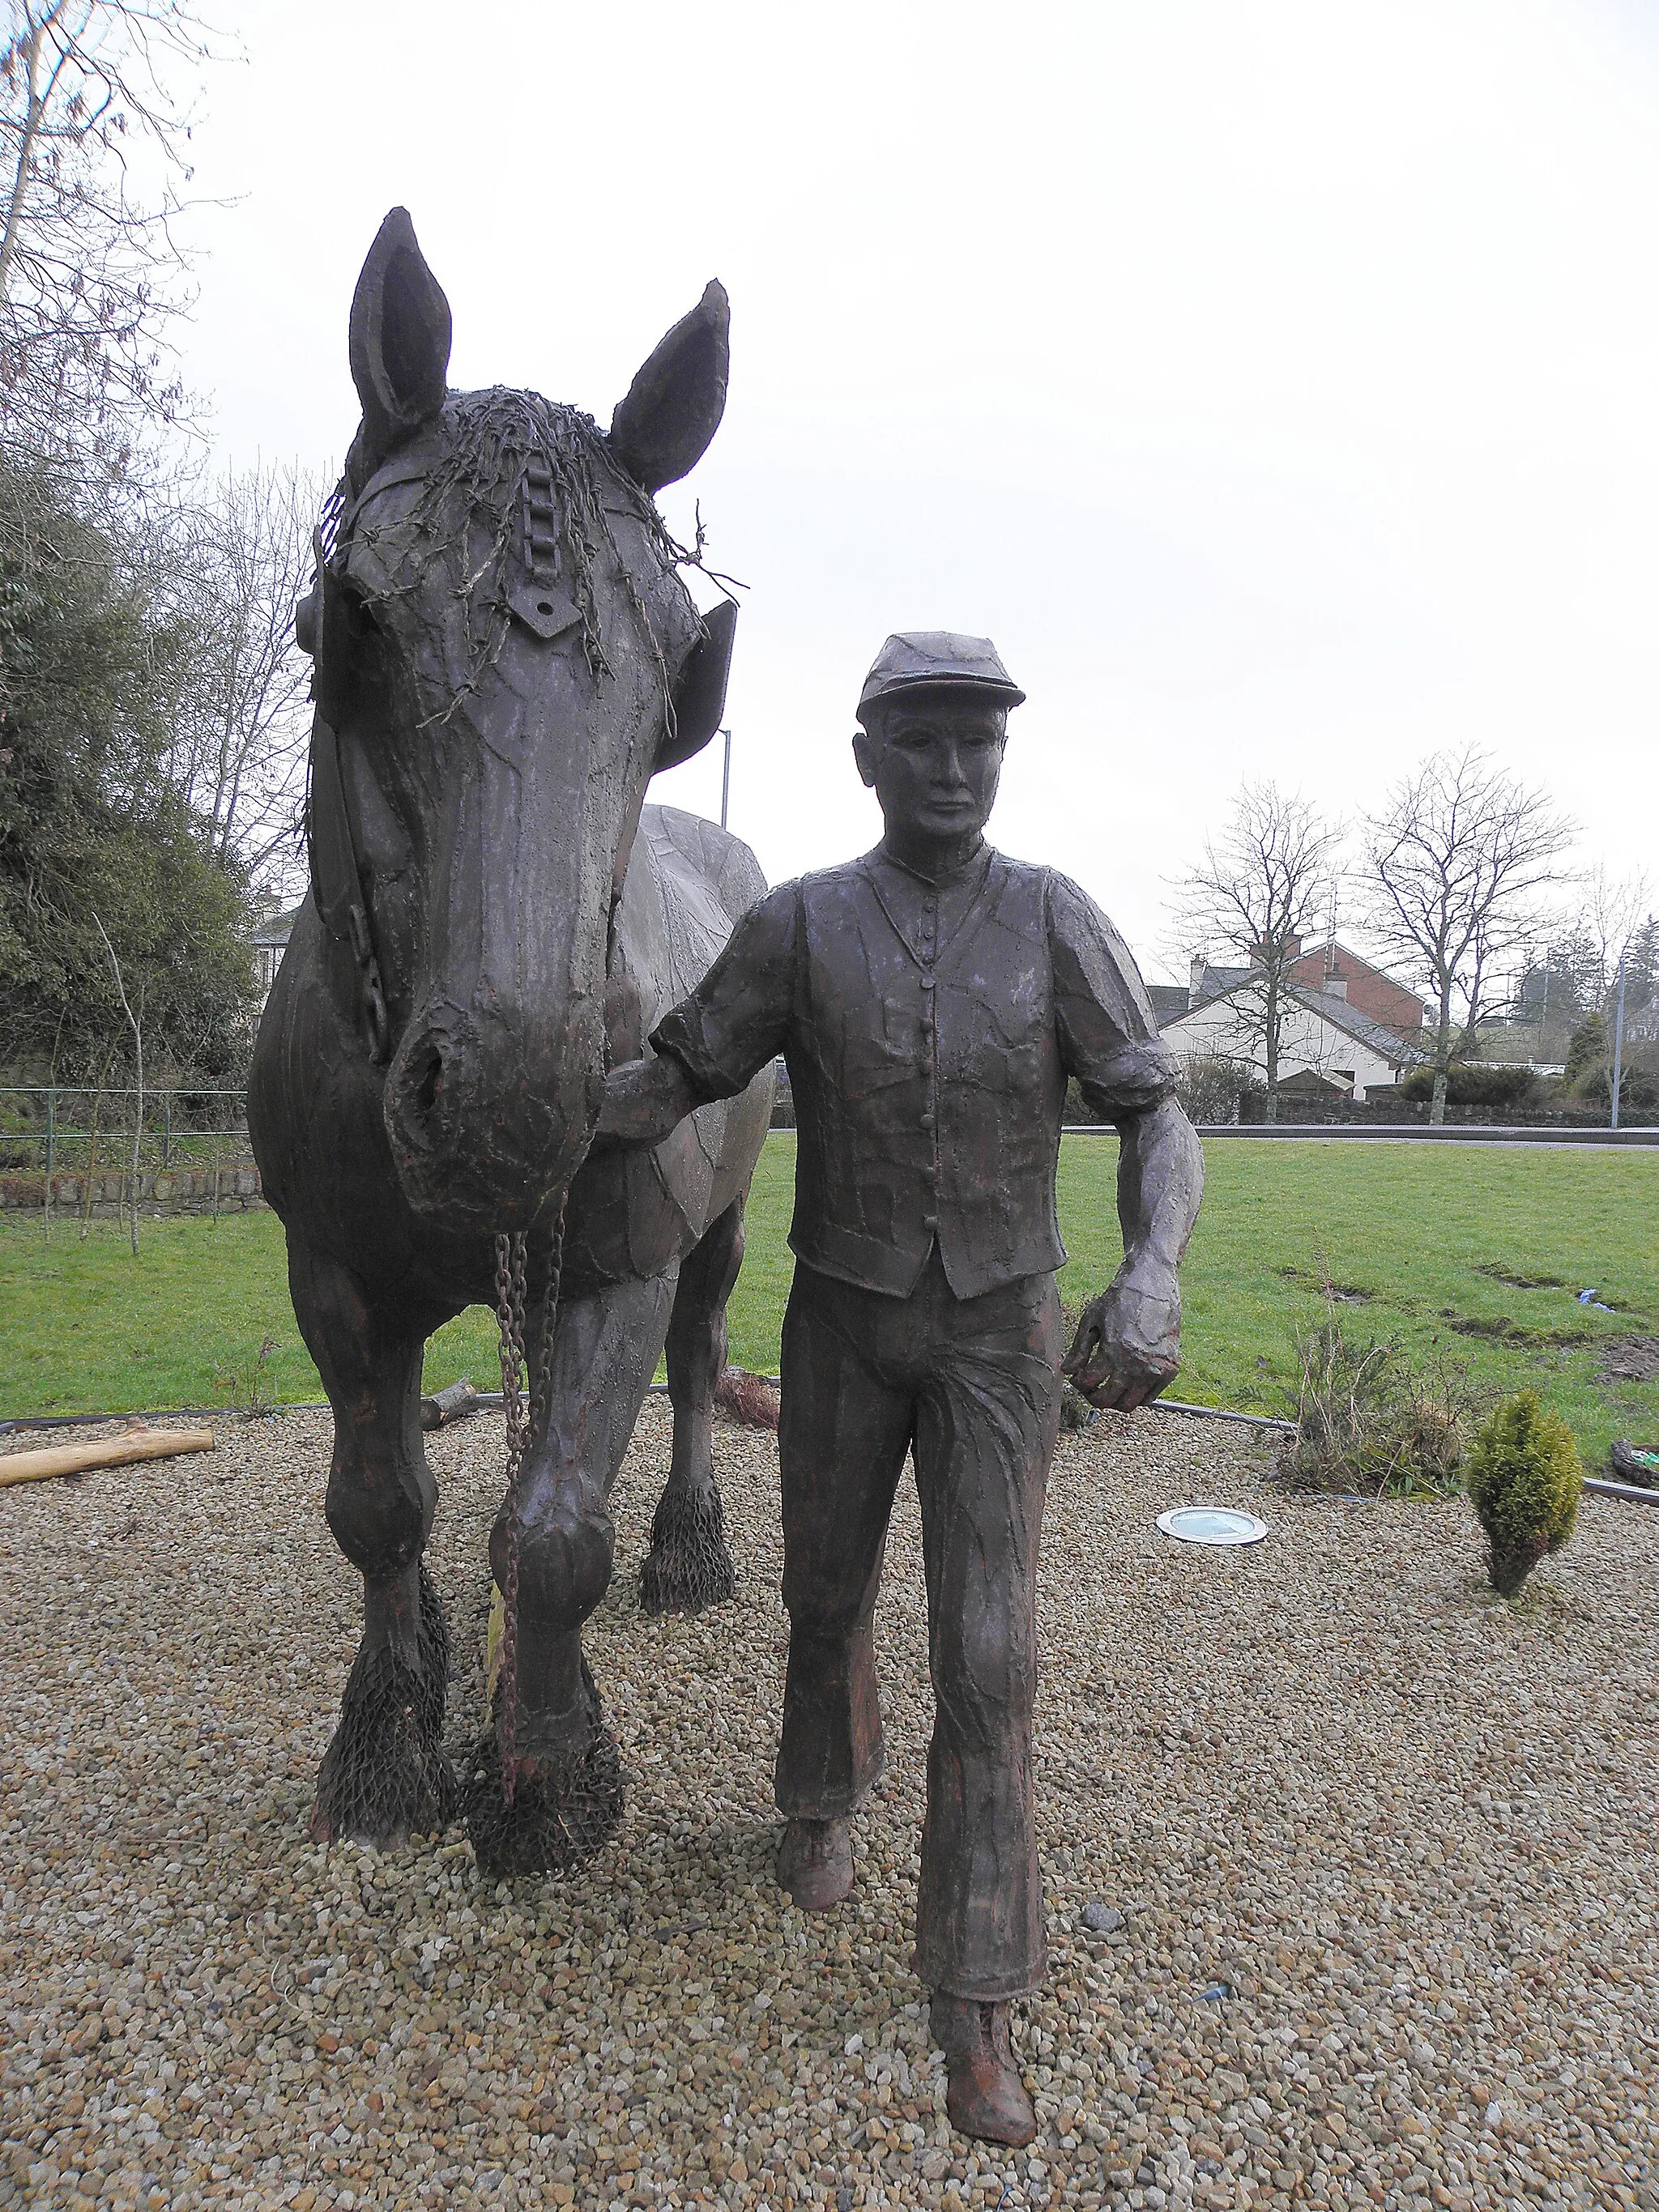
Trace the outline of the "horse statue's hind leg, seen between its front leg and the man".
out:
<instances>
[{"instance_id":1,"label":"horse statue's hind leg, seen between its front leg and the man","mask_svg":"<svg viewBox=\"0 0 1659 2212\"><path fill-rule=\"evenodd\" d=\"M726 1301L741 1265L743 1197L737 1197L679 1270L668 1323L675 1451L639 1568L641 1613L701 1613L737 1588L714 1482L714 1389L726 1374Z\"/></svg>"}]
</instances>

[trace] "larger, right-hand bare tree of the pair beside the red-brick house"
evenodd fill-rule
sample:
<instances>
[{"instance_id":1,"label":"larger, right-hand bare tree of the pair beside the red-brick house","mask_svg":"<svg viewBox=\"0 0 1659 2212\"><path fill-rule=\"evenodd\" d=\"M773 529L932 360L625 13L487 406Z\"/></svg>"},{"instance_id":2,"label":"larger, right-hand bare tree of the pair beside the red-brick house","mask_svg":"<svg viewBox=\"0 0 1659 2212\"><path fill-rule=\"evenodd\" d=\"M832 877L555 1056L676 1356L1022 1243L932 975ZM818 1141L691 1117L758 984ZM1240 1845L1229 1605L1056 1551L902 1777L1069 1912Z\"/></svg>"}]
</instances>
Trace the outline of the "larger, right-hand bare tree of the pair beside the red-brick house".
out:
<instances>
[{"instance_id":1,"label":"larger, right-hand bare tree of the pair beside the red-brick house","mask_svg":"<svg viewBox=\"0 0 1659 2212\"><path fill-rule=\"evenodd\" d=\"M1444 1121L1451 1064L1471 1051L1502 967L1537 929L1540 905L1562 880L1573 830L1542 792L1473 745L1425 761L1371 825L1371 933L1427 984L1436 1006L1431 1121ZM1458 1006L1462 1020L1453 1018Z\"/></svg>"}]
</instances>

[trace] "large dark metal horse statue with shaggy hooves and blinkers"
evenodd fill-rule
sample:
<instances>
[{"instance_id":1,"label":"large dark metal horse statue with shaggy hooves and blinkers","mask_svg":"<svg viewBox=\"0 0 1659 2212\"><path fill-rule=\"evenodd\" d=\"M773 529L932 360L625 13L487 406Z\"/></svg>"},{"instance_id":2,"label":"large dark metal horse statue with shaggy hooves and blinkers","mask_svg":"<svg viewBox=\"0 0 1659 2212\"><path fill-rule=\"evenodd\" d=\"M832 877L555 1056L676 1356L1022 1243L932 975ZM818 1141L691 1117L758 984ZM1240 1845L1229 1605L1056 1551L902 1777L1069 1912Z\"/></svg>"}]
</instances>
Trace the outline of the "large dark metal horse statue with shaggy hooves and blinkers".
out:
<instances>
[{"instance_id":1,"label":"large dark metal horse statue with shaggy hooves and blinkers","mask_svg":"<svg viewBox=\"0 0 1659 2212\"><path fill-rule=\"evenodd\" d=\"M726 706L737 608L699 617L679 573L695 555L653 498L719 427L726 292L668 332L608 434L533 392L449 392L449 334L394 208L352 301L363 422L296 615L310 896L248 1126L334 1411L327 1524L363 1575L312 1832L394 1847L460 1805L480 1865L526 1874L588 1856L622 1816L582 1624L664 1345L675 1436L641 1601L732 1590L712 1405L770 1075L655 1152L591 1139L606 1068L644 1051L765 878L723 830L644 805ZM478 1301L504 1347L504 1626L458 1783L422 1568L438 1491L420 1360Z\"/></svg>"}]
</instances>

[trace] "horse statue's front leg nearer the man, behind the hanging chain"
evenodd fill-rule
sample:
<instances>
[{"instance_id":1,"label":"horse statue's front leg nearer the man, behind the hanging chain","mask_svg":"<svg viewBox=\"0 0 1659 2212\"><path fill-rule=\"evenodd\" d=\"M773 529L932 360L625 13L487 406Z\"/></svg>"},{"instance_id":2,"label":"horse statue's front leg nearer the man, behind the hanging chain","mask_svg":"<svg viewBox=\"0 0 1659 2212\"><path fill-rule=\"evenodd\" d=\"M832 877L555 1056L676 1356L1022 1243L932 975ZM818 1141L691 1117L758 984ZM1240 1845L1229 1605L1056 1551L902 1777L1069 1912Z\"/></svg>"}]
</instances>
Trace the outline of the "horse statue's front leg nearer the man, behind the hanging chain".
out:
<instances>
[{"instance_id":1,"label":"horse statue's front leg nearer the man, behind the hanging chain","mask_svg":"<svg viewBox=\"0 0 1659 2212\"><path fill-rule=\"evenodd\" d=\"M513 1801L502 1787L502 1710L467 1783L467 1827L489 1878L564 1871L591 1858L622 1818L622 1765L582 1655L582 1621L611 1586L611 1486L657 1367L675 1270L611 1283L560 1305L544 1438L520 1478L518 1528L502 1502L489 1540L507 1590L518 1548L511 1650Z\"/></svg>"}]
</instances>

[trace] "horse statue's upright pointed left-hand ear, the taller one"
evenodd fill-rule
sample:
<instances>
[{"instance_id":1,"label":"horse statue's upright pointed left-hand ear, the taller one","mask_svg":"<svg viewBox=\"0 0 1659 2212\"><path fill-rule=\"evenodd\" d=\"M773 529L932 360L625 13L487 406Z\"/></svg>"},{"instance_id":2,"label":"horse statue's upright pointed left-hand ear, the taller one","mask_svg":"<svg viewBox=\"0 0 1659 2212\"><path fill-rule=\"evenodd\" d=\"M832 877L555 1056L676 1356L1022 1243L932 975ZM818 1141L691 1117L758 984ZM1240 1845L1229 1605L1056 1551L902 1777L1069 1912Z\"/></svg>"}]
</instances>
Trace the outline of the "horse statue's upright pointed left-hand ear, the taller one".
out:
<instances>
[{"instance_id":1,"label":"horse statue's upright pointed left-hand ear, the taller one","mask_svg":"<svg viewBox=\"0 0 1659 2212\"><path fill-rule=\"evenodd\" d=\"M442 407L449 338L449 301L416 243L409 210L394 208L352 294L352 383L363 403L347 462L356 489Z\"/></svg>"}]
</instances>

